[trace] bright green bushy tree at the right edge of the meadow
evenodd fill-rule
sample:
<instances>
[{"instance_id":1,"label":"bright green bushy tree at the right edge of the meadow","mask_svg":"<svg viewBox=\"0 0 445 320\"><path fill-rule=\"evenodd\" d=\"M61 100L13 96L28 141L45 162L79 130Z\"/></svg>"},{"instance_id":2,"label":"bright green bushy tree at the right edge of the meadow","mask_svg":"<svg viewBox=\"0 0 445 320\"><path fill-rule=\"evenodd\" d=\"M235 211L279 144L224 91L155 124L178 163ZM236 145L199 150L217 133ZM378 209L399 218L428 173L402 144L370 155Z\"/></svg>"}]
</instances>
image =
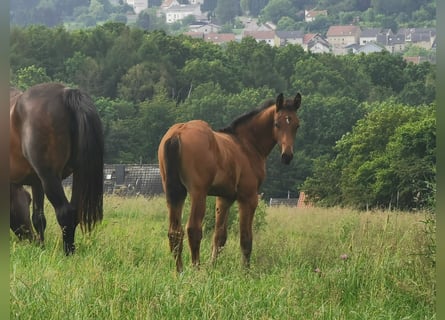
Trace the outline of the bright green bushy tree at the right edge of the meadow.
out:
<instances>
[{"instance_id":1,"label":"bright green bushy tree at the right edge of the meadow","mask_svg":"<svg viewBox=\"0 0 445 320\"><path fill-rule=\"evenodd\" d=\"M318 161L303 189L327 205L425 206L434 197L434 107L385 102L368 108L352 132L338 141L335 158ZM327 196L336 188L337 196Z\"/></svg>"}]
</instances>

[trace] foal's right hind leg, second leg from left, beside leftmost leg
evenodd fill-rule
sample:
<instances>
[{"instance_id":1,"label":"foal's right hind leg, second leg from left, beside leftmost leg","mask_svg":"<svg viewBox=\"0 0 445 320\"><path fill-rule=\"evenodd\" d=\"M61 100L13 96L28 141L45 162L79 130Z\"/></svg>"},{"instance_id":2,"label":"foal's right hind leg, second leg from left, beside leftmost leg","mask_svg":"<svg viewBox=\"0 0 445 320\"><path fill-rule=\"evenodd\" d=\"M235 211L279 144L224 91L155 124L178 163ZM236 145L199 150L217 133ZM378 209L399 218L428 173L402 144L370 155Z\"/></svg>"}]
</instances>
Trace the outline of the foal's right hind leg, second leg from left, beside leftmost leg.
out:
<instances>
[{"instance_id":1,"label":"foal's right hind leg, second leg from left, beside leftmost leg","mask_svg":"<svg viewBox=\"0 0 445 320\"><path fill-rule=\"evenodd\" d=\"M187 235L189 240L190 251L192 253L192 264L199 266L199 249L202 239L202 219L205 214L206 193L191 193L191 212L187 223Z\"/></svg>"}]
</instances>

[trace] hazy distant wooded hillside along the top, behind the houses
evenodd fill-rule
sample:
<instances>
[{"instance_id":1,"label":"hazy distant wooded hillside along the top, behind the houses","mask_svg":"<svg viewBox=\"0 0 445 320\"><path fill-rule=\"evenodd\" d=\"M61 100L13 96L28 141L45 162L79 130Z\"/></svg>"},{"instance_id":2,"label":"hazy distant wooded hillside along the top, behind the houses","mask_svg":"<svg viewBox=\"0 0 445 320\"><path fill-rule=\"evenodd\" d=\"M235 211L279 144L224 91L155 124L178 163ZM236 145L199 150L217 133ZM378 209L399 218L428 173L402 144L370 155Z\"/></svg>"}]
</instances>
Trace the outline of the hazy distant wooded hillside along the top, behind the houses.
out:
<instances>
[{"instance_id":1,"label":"hazy distant wooded hillside along the top, behind the houses","mask_svg":"<svg viewBox=\"0 0 445 320\"><path fill-rule=\"evenodd\" d=\"M148 9L137 16L129 1L119 0L16 0L10 3L10 23L16 26L43 24L53 27L60 24L71 28L92 27L105 21L125 22L144 29L175 31L181 27L165 22L158 17L160 0L147 0ZM200 0L204 16L212 21L229 26L240 23L241 16L270 21L279 30L304 30L325 32L329 25L359 24L367 27L391 28L434 27L436 3L433 0ZM188 4L187 0L179 0ZM326 11L326 15L308 21L307 10ZM139 10L136 10L138 12ZM182 24L188 24L187 18Z\"/></svg>"}]
</instances>

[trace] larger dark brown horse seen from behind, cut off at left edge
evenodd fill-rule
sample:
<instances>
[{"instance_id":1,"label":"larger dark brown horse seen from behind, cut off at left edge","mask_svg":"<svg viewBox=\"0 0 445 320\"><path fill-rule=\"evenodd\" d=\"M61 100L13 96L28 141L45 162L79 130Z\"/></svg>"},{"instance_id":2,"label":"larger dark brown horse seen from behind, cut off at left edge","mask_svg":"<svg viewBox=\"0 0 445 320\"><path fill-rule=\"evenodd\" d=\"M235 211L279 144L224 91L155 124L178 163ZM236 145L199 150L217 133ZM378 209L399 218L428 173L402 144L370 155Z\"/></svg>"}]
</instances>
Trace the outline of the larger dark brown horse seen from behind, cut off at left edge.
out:
<instances>
[{"instance_id":1,"label":"larger dark brown horse seen from behind, cut off at left edge","mask_svg":"<svg viewBox=\"0 0 445 320\"><path fill-rule=\"evenodd\" d=\"M58 83L10 90L10 182L32 188L32 222L43 244L44 196L62 228L63 248L75 250L80 223L90 231L103 216L103 132L90 97ZM73 174L71 201L62 180Z\"/></svg>"}]
</instances>

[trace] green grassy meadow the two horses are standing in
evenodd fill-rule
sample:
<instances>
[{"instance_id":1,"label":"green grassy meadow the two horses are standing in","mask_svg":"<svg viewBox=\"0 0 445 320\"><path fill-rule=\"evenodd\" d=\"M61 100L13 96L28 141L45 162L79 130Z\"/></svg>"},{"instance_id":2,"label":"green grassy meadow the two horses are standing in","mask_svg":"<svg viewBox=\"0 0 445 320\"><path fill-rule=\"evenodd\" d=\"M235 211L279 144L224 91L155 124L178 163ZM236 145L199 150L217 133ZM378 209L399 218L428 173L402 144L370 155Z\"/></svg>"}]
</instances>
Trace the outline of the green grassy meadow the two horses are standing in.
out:
<instances>
[{"instance_id":1,"label":"green grassy meadow the two horses are standing in","mask_svg":"<svg viewBox=\"0 0 445 320\"><path fill-rule=\"evenodd\" d=\"M47 204L46 247L10 234L11 319L435 319L425 213L268 208L252 267L229 234L215 266L177 275L160 198L106 197L105 218L65 257Z\"/></svg>"}]
</instances>

